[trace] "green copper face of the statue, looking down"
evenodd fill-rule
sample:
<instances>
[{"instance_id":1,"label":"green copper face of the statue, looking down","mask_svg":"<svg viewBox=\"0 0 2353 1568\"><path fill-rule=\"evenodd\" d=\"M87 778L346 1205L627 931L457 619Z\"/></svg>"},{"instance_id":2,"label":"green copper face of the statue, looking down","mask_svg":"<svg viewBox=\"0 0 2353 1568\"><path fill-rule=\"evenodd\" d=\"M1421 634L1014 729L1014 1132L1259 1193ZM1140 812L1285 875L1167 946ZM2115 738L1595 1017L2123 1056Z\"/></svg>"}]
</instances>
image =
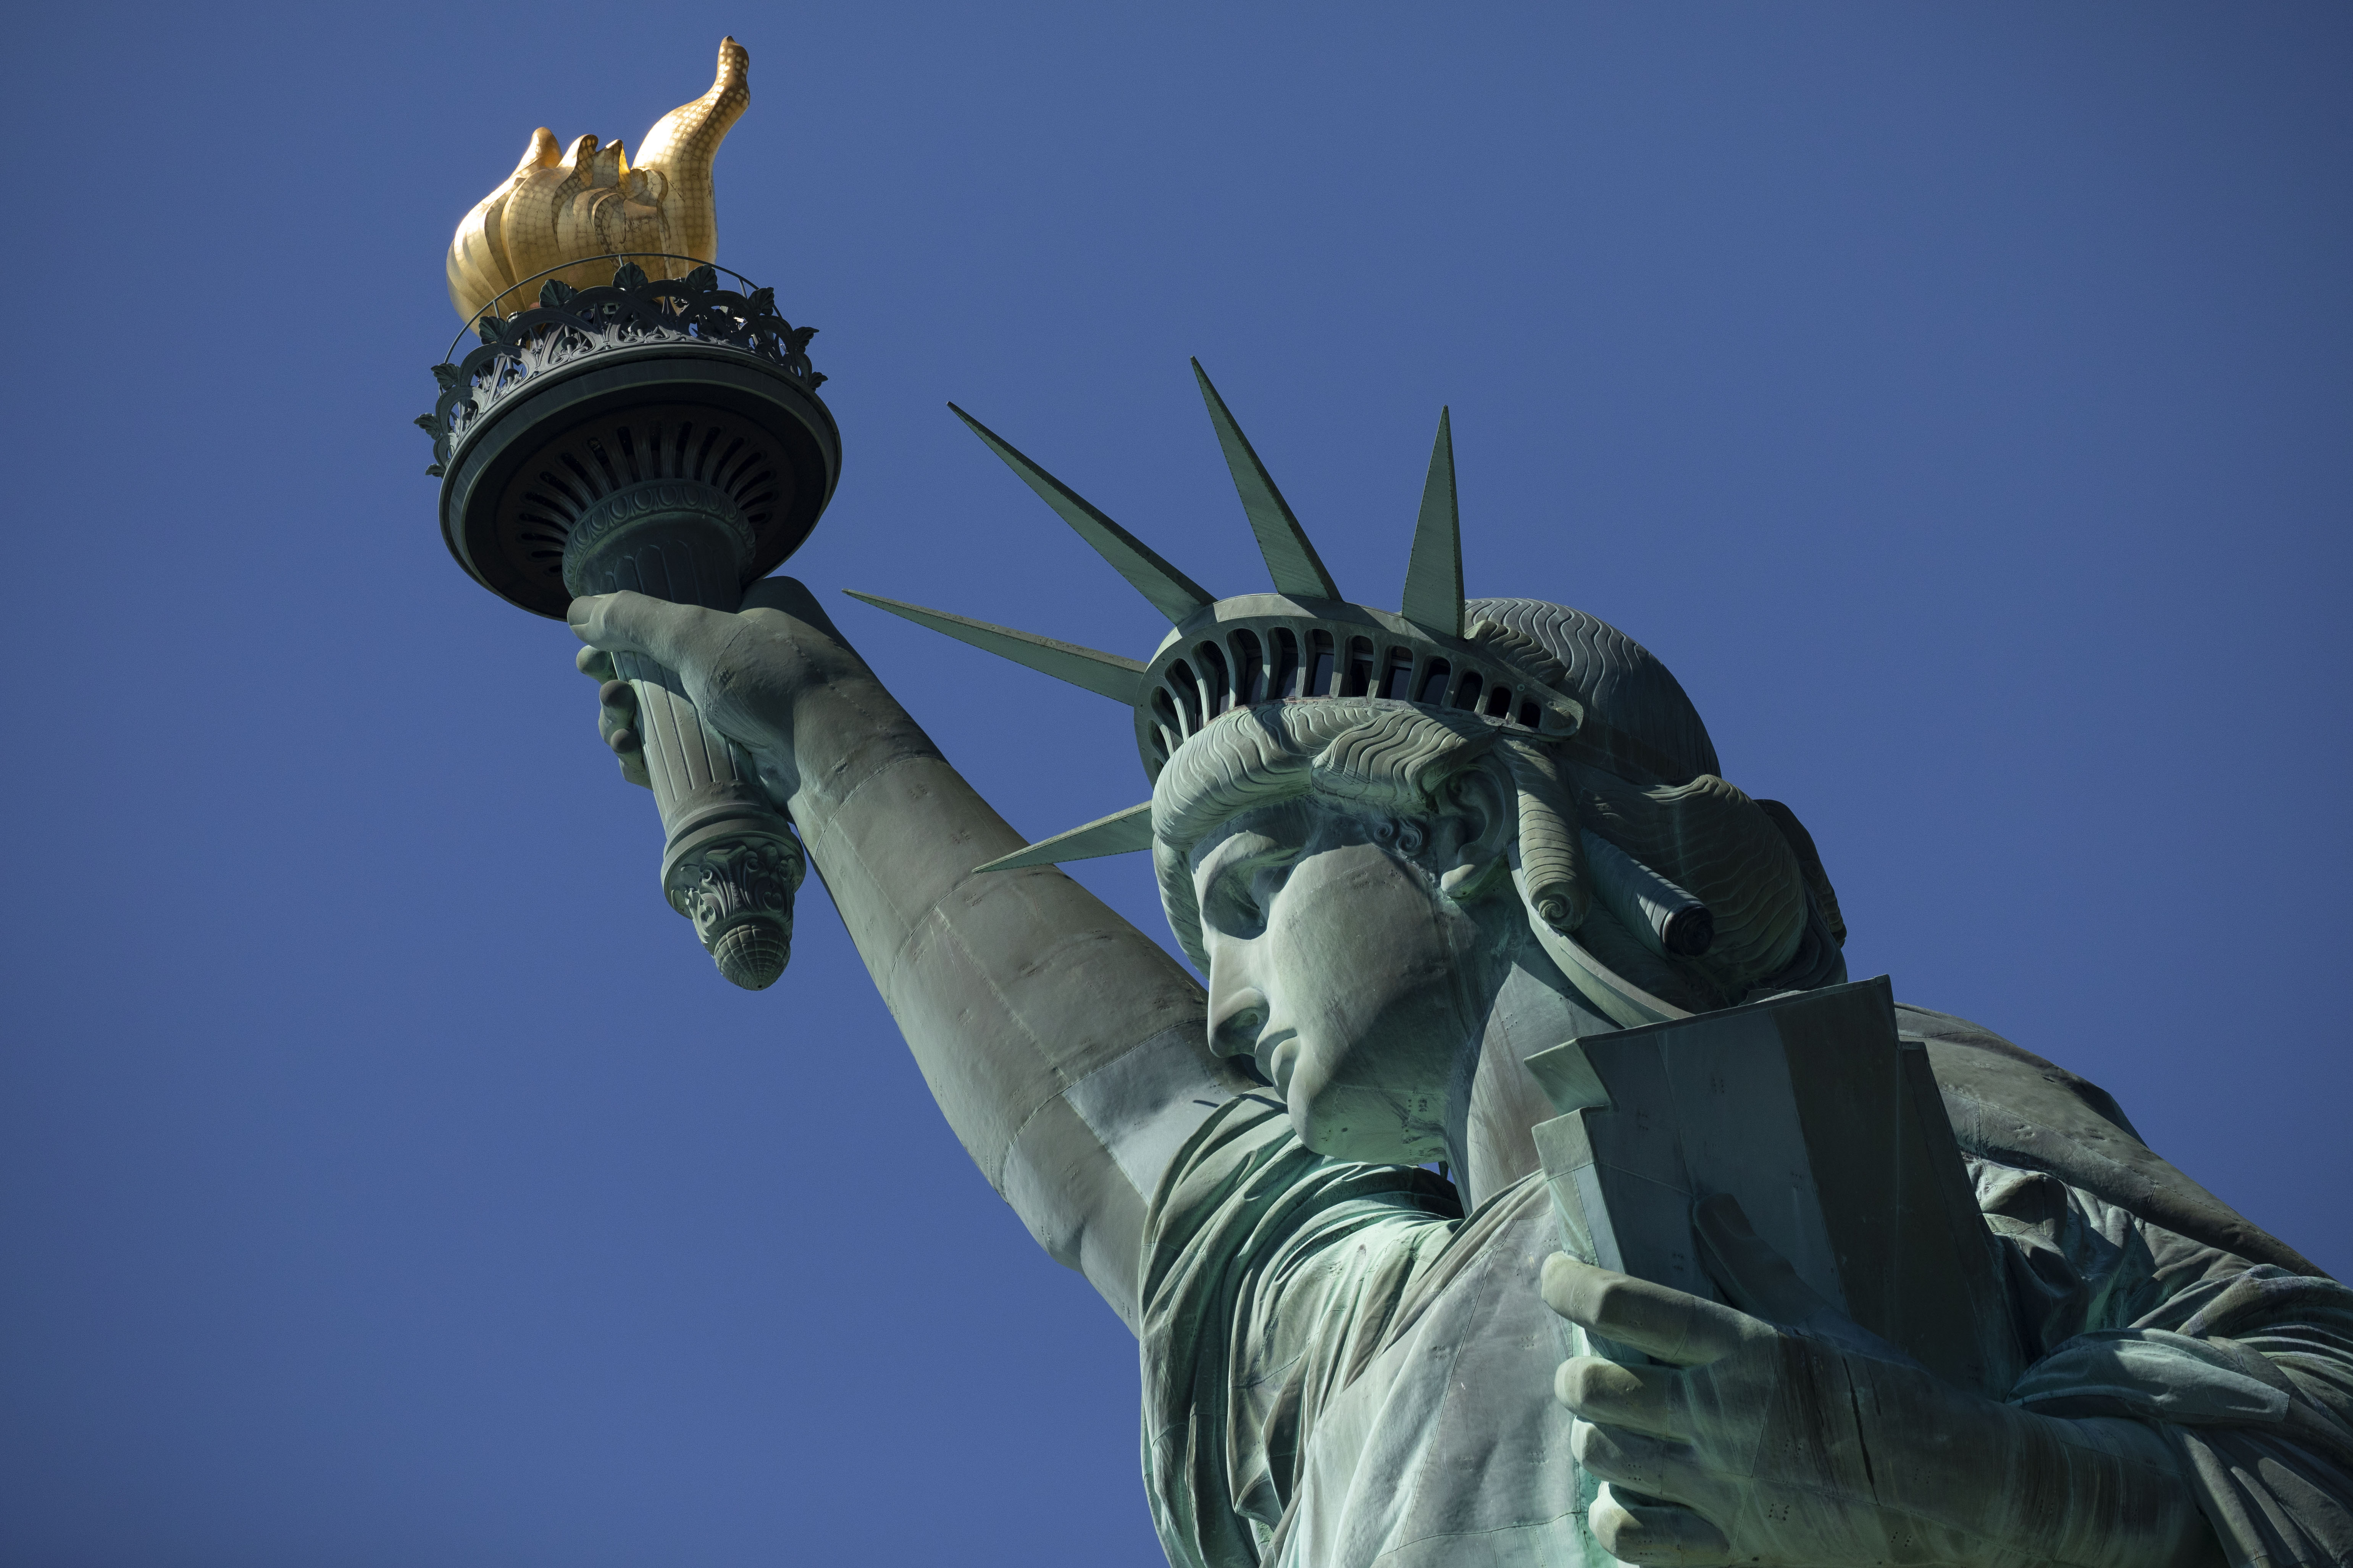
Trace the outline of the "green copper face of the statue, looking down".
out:
<instances>
[{"instance_id":1,"label":"green copper face of the statue, looking down","mask_svg":"<svg viewBox=\"0 0 2353 1568\"><path fill-rule=\"evenodd\" d=\"M1193 851L1209 1044L1257 1060L1318 1154L1447 1157L1494 987L1494 931L1438 886L1468 832L1304 799Z\"/></svg>"}]
</instances>

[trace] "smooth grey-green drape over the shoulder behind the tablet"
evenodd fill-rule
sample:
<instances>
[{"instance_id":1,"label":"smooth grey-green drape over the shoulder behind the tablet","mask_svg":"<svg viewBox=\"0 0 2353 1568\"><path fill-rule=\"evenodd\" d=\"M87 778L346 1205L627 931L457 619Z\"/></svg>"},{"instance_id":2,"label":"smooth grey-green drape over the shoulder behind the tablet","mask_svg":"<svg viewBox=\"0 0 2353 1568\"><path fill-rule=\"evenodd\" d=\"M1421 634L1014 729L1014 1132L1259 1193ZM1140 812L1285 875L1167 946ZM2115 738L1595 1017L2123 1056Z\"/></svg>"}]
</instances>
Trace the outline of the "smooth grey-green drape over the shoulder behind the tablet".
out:
<instances>
[{"instance_id":1,"label":"smooth grey-green drape over the shoulder behind the tablet","mask_svg":"<svg viewBox=\"0 0 2353 1568\"><path fill-rule=\"evenodd\" d=\"M1965 1154L2045 1171L2151 1225L2249 1262L2320 1274L2292 1246L2160 1159L2099 1084L1953 1013L1897 1004L1897 1030L1927 1048Z\"/></svg>"}]
</instances>

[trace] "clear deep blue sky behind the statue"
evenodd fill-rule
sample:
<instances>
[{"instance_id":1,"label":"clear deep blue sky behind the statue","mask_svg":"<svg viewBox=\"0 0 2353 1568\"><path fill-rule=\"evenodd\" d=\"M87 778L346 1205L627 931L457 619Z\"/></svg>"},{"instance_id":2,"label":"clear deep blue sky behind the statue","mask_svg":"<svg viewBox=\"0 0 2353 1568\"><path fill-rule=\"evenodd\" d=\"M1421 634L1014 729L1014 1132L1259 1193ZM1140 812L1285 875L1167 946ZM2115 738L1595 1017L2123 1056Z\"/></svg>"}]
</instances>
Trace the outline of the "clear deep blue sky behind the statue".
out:
<instances>
[{"instance_id":1,"label":"clear deep blue sky behind the statue","mask_svg":"<svg viewBox=\"0 0 2353 1568\"><path fill-rule=\"evenodd\" d=\"M1158 642L951 397L1261 588L1200 355L1393 604L1452 404L1471 590L1654 649L1857 976L2353 1269L2341 5L45 5L0 1561L1158 1561L1134 1347L819 884L727 987L572 637L435 531L449 228L720 33L720 259L845 437L819 592ZM1016 827L1144 797L1120 710L835 602Z\"/></svg>"}]
</instances>

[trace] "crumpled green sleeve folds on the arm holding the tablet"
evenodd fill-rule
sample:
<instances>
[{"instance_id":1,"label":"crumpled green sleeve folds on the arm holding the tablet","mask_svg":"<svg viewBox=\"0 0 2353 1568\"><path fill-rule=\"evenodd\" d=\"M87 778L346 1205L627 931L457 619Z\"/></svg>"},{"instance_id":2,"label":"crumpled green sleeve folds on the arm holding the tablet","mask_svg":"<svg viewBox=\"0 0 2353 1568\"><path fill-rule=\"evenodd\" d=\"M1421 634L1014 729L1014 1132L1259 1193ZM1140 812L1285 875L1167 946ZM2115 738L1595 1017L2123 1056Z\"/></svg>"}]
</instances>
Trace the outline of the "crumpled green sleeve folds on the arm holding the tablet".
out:
<instances>
[{"instance_id":1,"label":"crumpled green sleeve folds on the arm holding the tablet","mask_svg":"<svg viewBox=\"0 0 2353 1568\"><path fill-rule=\"evenodd\" d=\"M1979 1192L2047 1345L2014 1403L2155 1427L2231 1563L2353 1563L2353 1291L2052 1175L1981 1171Z\"/></svg>"}]
</instances>

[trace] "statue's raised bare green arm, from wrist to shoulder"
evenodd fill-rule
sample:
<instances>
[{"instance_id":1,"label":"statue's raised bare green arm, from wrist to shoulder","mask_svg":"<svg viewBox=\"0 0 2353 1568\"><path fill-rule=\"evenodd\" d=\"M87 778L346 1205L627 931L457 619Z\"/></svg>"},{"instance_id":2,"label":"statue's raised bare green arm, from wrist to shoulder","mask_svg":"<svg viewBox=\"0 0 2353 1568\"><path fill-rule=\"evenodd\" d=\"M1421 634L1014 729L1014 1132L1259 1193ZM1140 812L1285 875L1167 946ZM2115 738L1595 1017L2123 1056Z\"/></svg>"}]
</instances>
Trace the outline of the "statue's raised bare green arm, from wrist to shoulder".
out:
<instances>
[{"instance_id":1,"label":"statue's raised bare green arm, from wrist to shoulder","mask_svg":"<svg viewBox=\"0 0 2353 1568\"><path fill-rule=\"evenodd\" d=\"M776 780L809 863L974 1164L1134 1328L1146 1199L1247 1084L1158 943L1054 867L974 872L1024 837L840 632L809 630L835 670L798 698Z\"/></svg>"}]
</instances>

